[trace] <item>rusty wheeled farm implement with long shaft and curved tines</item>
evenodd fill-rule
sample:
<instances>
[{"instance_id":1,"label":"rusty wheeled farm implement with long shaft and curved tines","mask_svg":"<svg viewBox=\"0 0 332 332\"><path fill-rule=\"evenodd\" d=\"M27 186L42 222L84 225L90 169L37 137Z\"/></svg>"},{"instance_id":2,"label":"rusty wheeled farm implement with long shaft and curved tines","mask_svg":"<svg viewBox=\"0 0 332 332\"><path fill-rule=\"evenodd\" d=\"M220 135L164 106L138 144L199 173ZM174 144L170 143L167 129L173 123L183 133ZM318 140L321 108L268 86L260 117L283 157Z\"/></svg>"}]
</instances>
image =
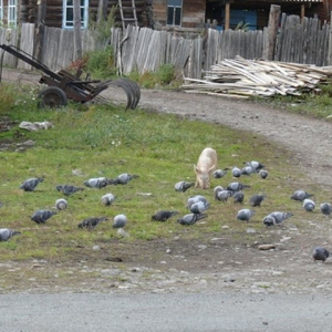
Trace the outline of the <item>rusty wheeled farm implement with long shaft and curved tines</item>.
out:
<instances>
[{"instance_id":1,"label":"rusty wheeled farm implement with long shaft and curved tines","mask_svg":"<svg viewBox=\"0 0 332 332\"><path fill-rule=\"evenodd\" d=\"M41 76L39 82L48 86L43 89L38 95L39 105L42 107L65 106L68 104L68 100L73 100L79 103L86 103L98 96L100 93L106 90L110 85L115 85L124 90L127 96L126 108L134 110L136 108L139 102L139 86L132 80L116 79L100 81L90 80L90 75L86 75L86 80L81 80L81 75L83 73L82 70L77 70L75 74L71 74L65 70L53 72L38 59L33 58L32 55L28 54L27 52L17 46L0 44L0 49L29 63L34 69L40 70L44 73L44 75ZM3 53L1 56L1 71Z\"/></svg>"}]
</instances>

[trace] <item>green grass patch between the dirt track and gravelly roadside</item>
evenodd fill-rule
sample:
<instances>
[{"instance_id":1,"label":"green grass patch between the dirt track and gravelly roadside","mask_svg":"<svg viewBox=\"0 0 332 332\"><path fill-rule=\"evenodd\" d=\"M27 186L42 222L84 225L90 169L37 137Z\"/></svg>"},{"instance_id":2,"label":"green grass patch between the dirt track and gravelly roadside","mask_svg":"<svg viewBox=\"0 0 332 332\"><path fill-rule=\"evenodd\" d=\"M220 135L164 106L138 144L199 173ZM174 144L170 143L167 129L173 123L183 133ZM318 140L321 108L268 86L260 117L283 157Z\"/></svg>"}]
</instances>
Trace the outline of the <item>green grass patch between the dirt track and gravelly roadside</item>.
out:
<instances>
[{"instance_id":1,"label":"green grass patch between the dirt track and gravelly roadside","mask_svg":"<svg viewBox=\"0 0 332 332\"><path fill-rule=\"evenodd\" d=\"M81 251L77 248L92 248L113 241L133 242L174 237L199 239L206 235L212 237L222 234L232 237L238 243L252 242L255 236L246 235L247 227L258 229L259 237L266 232L261 220L267 212L271 209L294 209L294 203L289 196L298 189L299 179L292 176L297 169L289 162L290 155L256 134L145 110L125 112L122 107L111 105L91 105L85 112L77 111L74 104L63 110L42 110L35 107L33 97L24 100L19 96L20 103L12 101L9 96L14 87L7 89L2 115L18 124L23 120L50 121L54 127L27 132L17 125L0 134L0 141L35 142L35 147L25 152L3 151L0 154L0 201L3 204L0 208L1 227L22 231L21 236L0 243L2 261L75 257ZM245 206L248 207L252 194L264 193L268 196L262 207L257 208L257 215L249 226L236 220L240 207L231 199L227 204L214 200L212 188L217 185L227 186L235 180L230 174L221 179L211 179L209 190L174 190L174 184L179 180L195 180L193 164L196 164L206 146L217 151L221 168L241 166L246 160L256 159L269 169L270 176L266 180L257 175L240 178L240 181L251 186L245 191ZM73 170L81 175L74 175ZM59 211L45 225L39 226L30 220L37 209L52 209L55 199L62 196L55 190L58 184L83 186L83 181L90 177L114 178L121 173L137 174L139 177L126 186L85 188L68 197L68 209ZM34 193L24 193L19 188L24 179L40 176L45 179ZM307 186L305 189L314 191L317 188ZM111 207L101 203L105 193L117 195ZM148 193L152 195L142 195ZM184 227L176 224L176 218L167 222L151 220L152 215L159 209L176 209L180 215L187 214L187 198L195 194L205 195L211 203L205 222ZM321 195L323 197L324 193L321 191ZM129 238L118 238L112 228L113 217L117 214L127 216L126 231ZM84 218L102 216L107 216L110 220L98 225L95 230L77 228ZM299 216L302 216L301 212ZM230 229L222 229L224 225L230 226Z\"/></svg>"}]
</instances>

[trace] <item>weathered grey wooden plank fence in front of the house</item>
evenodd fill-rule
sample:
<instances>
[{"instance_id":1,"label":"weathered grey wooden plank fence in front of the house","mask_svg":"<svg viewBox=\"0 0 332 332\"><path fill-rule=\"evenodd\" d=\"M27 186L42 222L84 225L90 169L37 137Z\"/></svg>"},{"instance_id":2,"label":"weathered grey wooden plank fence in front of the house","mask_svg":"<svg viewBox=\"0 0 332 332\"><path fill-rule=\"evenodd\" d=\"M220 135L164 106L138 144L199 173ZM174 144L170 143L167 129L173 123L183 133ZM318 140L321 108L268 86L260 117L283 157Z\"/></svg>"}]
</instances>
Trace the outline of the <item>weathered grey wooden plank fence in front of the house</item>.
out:
<instances>
[{"instance_id":1,"label":"weathered grey wooden plank fence in front of the house","mask_svg":"<svg viewBox=\"0 0 332 332\"><path fill-rule=\"evenodd\" d=\"M332 64L332 39L330 24L318 19L297 15L281 17L276 40L273 60L315 64ZM111 44L120 74L132 71L156 71L163 64L174 64L186 77L200 79L204 71L224 59L240 55L245 59L261 59L266 54L269 29L263 31L206 30L205 35L186 39L165 31L131 27L111 30ZM20 35L20 39L19 39ZM14 44L29 54L34 49L34 25L24 23L17 30L0 28L0 43ZM42 62L51 70L68 68L74 59L73 31L45 27ZM97 48L92 32L82 31L83 51ZM31 69L4 52L3 65Z\"/></svg>"}]
</instances>

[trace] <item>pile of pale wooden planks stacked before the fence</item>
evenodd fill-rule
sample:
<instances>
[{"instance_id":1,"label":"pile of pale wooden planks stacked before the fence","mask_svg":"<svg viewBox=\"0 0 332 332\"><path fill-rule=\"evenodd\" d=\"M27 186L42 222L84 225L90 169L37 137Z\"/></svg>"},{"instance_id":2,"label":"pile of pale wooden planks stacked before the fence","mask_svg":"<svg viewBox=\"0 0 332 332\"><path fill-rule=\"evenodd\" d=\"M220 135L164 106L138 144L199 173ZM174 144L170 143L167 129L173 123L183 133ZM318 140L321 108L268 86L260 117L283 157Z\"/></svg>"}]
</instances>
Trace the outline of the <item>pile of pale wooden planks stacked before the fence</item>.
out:
<instances>
[{"instance_id":1,"label":"pile of pale wooden planks stacked before the fence","mask_svg":"<svg viewBox=\"0 0 332 332\"><path fill-rule=\"evenodd\" d=\"M239 97L300 95L319 91L318 84L326 82L331 75L331 68L236 56L211 65L204 80L185 77L181 89Z\"/></svg>"}]
</instances>

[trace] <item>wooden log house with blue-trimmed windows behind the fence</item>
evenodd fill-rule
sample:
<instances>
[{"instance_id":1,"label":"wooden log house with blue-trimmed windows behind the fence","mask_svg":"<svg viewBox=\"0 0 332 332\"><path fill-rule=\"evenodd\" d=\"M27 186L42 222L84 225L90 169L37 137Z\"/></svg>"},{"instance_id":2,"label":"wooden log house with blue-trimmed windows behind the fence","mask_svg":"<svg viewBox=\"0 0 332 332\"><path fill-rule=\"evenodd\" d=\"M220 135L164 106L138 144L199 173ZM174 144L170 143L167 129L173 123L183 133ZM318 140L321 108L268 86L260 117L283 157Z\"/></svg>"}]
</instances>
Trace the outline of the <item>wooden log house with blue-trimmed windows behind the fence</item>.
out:
<instances>
[{"instance_id":1,"label":"wooden log house with blue-trimmed windows behind the fence","mask_svg":"<svg viewBox=\"0 0 332 332\"><path fill-rule=\"evenodd\" d=\"M101 0L81 1L81 25L95 20ZM281 12L300 17L330 19L332 0L104 0L106 11L116 7L116 22L122 23L120 6L135 7L139 27L178 32L201 32L209 23L216 29L235 29L240 22L252 30L268 25L271 4ZM38 6L39 3L39 6ZM0 0L0 21L4 27L35 23L44 3L43 23L62 29L73 28L73 0ZM121 3L121 4L120 4ZM131 12L131 10L129 10ZM133 11L132 11L133 14Z\"/></svg>"}]
</instances>

